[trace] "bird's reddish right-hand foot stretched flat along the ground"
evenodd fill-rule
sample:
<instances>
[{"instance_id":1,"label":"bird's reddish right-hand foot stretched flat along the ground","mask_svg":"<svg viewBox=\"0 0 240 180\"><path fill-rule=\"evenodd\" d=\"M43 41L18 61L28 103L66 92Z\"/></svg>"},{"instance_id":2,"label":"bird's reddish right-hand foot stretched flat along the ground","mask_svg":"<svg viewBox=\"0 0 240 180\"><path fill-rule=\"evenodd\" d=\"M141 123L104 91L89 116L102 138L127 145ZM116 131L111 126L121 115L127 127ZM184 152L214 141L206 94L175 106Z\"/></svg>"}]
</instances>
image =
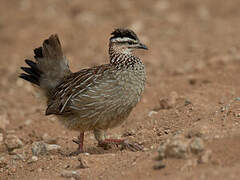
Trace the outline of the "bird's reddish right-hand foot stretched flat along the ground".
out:
<instances>
[{"instance_id":1,"label":"bird's reddish right-hand foot stretched flat along the ground","mask_svg":"<svg viewBox=\"0 0 240 180\"><path fill-rule=\"evenodd\" d=\"M104 141L98 142L100 147L104 149L110 149L111 145L121 146L121 149L129 149L130 151L142 151L143 147L137 143L131 143L123 139L105 139Z\"/></svg>"}]
</instances>

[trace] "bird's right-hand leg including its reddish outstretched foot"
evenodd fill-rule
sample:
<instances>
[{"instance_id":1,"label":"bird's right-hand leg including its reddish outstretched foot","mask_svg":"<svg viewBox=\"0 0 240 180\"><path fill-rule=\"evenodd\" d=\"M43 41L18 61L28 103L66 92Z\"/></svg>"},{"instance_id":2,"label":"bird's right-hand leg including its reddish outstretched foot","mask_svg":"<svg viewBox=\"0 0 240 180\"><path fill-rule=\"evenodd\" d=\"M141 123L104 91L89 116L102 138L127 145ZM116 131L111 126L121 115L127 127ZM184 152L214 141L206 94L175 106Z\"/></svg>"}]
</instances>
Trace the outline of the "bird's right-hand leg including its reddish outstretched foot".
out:
<instances>
[{"instance_id":1,"label":"bird's right-hand leg including its reddish outstretched foot","mask_svg":"<svg viewBox=\"0 0 240 180\"><path fill-rule=\"evenodd\" d=\"M95 138L98 141L98 145L104 149L109 149L111 145L121 145L124 149L131 151L142 151L143 148L137 143L130 143L124 139L107 139L103 130L94 130Z\"/></svg>"}]
</instances>

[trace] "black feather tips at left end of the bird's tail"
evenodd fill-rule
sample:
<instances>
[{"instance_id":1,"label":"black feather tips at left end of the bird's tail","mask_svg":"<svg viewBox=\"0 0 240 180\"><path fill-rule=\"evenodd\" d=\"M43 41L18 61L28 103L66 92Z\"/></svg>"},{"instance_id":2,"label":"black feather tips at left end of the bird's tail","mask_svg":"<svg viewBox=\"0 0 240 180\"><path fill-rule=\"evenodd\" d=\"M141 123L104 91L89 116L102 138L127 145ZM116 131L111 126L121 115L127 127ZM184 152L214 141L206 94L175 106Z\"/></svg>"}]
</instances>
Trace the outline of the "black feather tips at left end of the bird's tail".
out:
<instances>
[{"instance_id":1,"label":"black feather tips at left end of the bird's tail","mask_svg":"<svg viewBox=\"0 0 240 180\"><path fill-rule=\"evenodd\" d=\"M30 67L21 67L21 69L26 73L21 73L20 78L29 81L33 84L40 86L40 77L42 72L38 69L37 64L31 60L26 59L26 64Z\"/></svg>"}]
</instances>

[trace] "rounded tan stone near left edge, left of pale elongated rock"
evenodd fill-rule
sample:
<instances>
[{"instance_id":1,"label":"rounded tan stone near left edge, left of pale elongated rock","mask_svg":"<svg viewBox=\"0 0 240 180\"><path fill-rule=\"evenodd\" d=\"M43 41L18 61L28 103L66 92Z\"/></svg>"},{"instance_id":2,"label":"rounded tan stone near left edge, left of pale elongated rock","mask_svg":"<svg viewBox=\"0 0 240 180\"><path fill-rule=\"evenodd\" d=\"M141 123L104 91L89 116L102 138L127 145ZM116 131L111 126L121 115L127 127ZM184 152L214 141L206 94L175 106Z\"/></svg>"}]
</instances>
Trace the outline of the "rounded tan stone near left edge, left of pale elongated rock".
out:
<instances>
[{"instance_id":1,"label":"rounded tan stone near left edge, left of pale elongated rock","mask_svg":"<svg viewBox=\"0 0 240 180\"><path fill-rule=\"evenodd\" d=\"M23 146L23 142L16 135L13 134L8 134L6 136L5 144L7 146L8 151L12 151Z\"/></svg>"}]
</instances>

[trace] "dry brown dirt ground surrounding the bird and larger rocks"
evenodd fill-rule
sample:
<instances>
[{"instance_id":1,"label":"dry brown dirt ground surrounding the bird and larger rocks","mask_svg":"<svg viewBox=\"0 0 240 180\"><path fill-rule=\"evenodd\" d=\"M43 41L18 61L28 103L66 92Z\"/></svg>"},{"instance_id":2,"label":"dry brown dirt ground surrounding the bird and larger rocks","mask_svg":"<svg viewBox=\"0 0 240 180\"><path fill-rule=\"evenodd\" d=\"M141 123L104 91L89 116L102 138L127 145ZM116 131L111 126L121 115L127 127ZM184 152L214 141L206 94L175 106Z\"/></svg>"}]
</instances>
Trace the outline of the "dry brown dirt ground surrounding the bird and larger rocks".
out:
<instances>
[{"instance_id":1,"label":"dry brown dirt ground surrounding the bird and larger rocks","mask_svg":"<svg viewBox=\"0 0 240 180\"><path fill-rule=\"evenodd\" d=\"M64 170L76 171L81 179L239 179L240 1L0 4L0 133L14 134L23 143L14 152L0 149L1 180L64 179ZM88 132L88 153L66 157L60 152L75 150L72 138L78 133L64 128L54 116L44 116L45 104L30 84L18 78L19 67L52 33L59 34L73 71L106 63L108 38L116 27L132 28L148 45L149 51L137 52L146 65L147 84L127 122L108 134L140 142L144 151L103 150ZM206 163L165 158L165 168L154 169L159 144L175 134L200 136L211 158ZM32 143L46 137L61 151L30 161ZM16 154L24 158L19 160ZM79 158L88 168L79 168Z\"/></svg>"}]
</instances>

